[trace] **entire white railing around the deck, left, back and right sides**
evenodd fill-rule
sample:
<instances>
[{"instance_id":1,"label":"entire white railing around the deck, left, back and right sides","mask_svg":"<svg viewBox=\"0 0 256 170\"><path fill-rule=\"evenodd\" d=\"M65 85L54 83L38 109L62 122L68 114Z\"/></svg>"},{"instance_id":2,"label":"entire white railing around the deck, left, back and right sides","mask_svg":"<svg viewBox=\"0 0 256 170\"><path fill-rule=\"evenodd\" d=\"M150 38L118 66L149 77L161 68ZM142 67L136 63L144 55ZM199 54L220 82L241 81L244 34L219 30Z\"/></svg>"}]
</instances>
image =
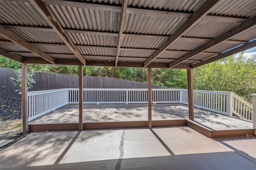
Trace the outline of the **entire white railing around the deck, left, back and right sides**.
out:
<instances>
[{"instance_id":1,"label":"entire white railing around the deck, left, back and right sides","mask_svg":"<svg viewBox=\"0 0 256 170\"><path fill-rule=\"evenodd\" d=\"M28 121L66 104L78 104L78 88L28 92ZM148 103L148 89L83 89L83 104ZM152 89L152 103L188 104L187 89ZM252 105L233 92L194 90L194 107L252 120Z\"/></svg>"}]
</instances>

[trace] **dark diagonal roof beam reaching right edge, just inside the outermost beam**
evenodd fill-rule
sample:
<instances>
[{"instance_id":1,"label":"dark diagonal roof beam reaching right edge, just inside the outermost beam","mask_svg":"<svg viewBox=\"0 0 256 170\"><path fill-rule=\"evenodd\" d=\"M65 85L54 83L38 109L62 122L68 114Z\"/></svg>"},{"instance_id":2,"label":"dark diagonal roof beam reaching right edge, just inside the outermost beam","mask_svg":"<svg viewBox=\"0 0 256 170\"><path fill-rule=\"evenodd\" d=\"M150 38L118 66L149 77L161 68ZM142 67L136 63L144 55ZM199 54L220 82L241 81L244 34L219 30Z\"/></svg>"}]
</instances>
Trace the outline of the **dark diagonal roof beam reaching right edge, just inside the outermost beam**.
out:
<instances>
[{"instance_id":1,"label":"dark diagonal roof beam reaching right edge, just inside the outermost beam","mask_svg":"<svg viewBox=\"0 0 256 170\"><path fill-rule=\"evenodd\" d=\"M236 27L226 31L225 33L223 33L222 35L208 41L208 43L205 43L204 45L201 45L199 47L197 47L196 49L194 49L193 51L191 51L190 53L184 54L182 57L178 58L176 61L172 61L169 64L169 67L172 68L173 66L182 63L183 61L186 61L188 59L190 59L191 57L194 57L195 55L202 53L203 51L213 47L214 45L217 45L223 41L225 41L226 39L254 26L256 24L256 16L240 23L239 25L237 25Z\"/></svg>"}]
</instances>

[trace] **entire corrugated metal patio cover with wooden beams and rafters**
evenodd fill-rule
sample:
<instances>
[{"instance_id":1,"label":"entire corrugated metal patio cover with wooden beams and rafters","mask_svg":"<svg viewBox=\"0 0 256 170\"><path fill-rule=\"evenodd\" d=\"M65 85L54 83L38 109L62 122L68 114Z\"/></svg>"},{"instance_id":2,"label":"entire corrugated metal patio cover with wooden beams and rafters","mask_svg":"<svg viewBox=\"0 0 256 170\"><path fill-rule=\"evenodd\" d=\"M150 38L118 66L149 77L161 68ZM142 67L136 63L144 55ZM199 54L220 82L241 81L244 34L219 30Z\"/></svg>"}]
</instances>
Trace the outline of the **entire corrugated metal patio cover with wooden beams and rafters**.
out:
<instances>
[{"instance_id":1,"label":"entire corrugated metal patio cover with wooden beams and rafters","mask_svg":"<svg viewBox=\"0 0 256 170\"><path fill-rule=\"evenodd\" d=\"M1 0L0 55L38 64L195 68L255 47L255 14L254 0Z\"/></svg>"}]
</instances>

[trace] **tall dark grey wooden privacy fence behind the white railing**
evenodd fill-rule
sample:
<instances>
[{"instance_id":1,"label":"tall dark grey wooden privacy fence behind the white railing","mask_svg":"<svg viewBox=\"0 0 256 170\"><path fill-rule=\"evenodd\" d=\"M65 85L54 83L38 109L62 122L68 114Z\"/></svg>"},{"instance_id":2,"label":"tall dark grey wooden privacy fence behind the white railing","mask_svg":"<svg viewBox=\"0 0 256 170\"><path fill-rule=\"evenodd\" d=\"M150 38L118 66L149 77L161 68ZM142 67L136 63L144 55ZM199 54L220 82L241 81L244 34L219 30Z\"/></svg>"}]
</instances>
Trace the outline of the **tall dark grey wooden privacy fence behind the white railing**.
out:
<instances>
[{"instance_id":1,"label":"tall dark grey wooden privacy fence behind the white railing","mask_svg":"<svg viewBox=\"0 0 256 170\"><path fill-rule=\"evenodd\" d=\"M0 67L0 94L9 98L21 98L21 95L15 92L18 87L14 86L10 80L10 77L16 78L14 70ZM36 72L33 78L36 84L32 84L33 87L29 89L30 92L79 87L78 76L73 75ZM148 88L148 84L144 82L92 76L84 76L83 85L83 88ZM152 88L164 87L152 85Z\"/></svg>"}]
</instances>

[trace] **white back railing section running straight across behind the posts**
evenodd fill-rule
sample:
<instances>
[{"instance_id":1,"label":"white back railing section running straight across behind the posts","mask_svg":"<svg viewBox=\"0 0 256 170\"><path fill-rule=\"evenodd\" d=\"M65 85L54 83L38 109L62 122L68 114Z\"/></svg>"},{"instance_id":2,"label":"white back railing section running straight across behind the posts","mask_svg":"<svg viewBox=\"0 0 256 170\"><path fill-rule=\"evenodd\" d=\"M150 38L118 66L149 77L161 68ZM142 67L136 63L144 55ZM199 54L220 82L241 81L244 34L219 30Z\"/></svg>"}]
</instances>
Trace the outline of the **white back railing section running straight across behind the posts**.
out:
<instances>
[{"instance_id":1,"label":"white back railing section running straight across behind the posts","mask_svg":"<svg viewBox=\"0 0 256 170\"><path fill-rule=\"evenodd\" d=\"M83 104L148 103L148 89L84 88ZM69 103L78 104L78 88L69 88ZM152 89L152 103L180 103L180 89Z\"/></svg>"}]
</instances>

